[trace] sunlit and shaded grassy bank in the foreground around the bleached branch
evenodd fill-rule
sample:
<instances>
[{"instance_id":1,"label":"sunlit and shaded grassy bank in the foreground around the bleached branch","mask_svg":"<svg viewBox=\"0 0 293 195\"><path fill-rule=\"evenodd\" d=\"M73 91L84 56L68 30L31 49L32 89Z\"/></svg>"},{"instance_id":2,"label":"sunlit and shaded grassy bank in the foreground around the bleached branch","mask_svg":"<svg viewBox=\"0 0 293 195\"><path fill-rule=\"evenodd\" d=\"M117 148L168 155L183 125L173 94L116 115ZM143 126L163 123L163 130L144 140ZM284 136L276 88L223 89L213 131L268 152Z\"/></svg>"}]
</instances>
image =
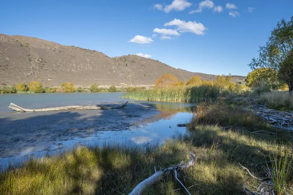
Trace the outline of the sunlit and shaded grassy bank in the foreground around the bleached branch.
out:
<instances>
[{"instance_id":1,"label":"sunlit and shaded grassy bank in the foreground around the bleached branch","mask_svg":"<svg viewBox=\"0 0 293 195\"><path fill-rule=\"evenodd\" d=\"M192 195L242 195L243 184L256 190L260 181L238 163L255 176L263 177L272 164L256 166L258 163L269 162L278 154L282 159L285 154L291 156L290 134L272 129L261 118L242 111L241 105L233 101L201 104L196 115L188 127L188 135L177 135L162 146L126 143L82 147L60 156L31 159L20 168L0 174L0 194L128 194L154 173L154 166L165 168L182 160L186 162L192 152L198 156L197 165L180 177ZM258 130L273 134L252 133ZM289 173L286 179L289 194L293 193L291 169L286 172ZM279 173L278 168L275 170ZM145 192L162 193L186 194L173 175Z\"/></svg>"}]
</instances>

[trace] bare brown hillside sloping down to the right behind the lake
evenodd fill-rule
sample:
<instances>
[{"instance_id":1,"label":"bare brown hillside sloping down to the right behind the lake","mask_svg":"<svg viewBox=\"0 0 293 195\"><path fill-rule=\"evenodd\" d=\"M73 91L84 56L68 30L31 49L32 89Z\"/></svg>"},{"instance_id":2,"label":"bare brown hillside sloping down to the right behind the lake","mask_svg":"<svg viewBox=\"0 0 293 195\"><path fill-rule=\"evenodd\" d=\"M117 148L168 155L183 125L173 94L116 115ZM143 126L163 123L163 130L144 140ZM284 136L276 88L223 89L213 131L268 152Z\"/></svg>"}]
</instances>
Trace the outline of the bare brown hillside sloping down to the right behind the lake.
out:
<instances>
[{"instance_id":1,"label":"bare brown hillside sloping down to the right behind the lake","mask_svg":"<svg viewBox=\"0 0 293 195\"><path fill-rule=\"evenodd\" d=\"M101 52L55 42L0 34L0 83L14 85L32 80L44 86L75 85L152 85L164 73L179 80L198 75L213 80L215 75L176 69L154 59L136 55L109 58ZM233 76L243 81L245 77Z\"/></svg>"}]
</instances>

